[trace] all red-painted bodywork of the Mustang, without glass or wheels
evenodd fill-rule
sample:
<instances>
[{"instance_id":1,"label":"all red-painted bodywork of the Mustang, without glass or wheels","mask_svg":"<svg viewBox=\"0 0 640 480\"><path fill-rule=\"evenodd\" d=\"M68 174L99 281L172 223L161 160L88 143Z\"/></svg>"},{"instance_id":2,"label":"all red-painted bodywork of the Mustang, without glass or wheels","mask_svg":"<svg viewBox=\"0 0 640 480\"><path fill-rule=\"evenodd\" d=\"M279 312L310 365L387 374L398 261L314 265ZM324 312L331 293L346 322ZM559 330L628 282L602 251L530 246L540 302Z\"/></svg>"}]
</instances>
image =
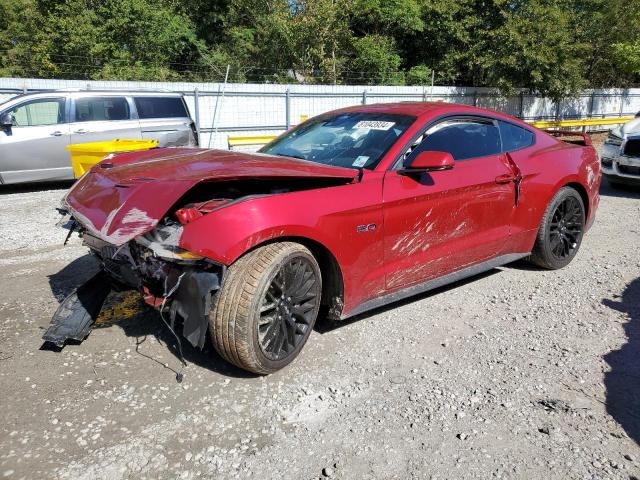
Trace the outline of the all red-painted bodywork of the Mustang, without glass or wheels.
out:
<instances>
[{"instance_id":1,"label":"all red-painted bodywork of the Mustang, without glass or wheels","mask_svg":"<svg viewBox=\"0 0 640 480\"><path fill-rule=\"evenodd\" d=\"M246 198L184 225L179 247L223 265L278 239L299 239L333 256L343 286L342 317L365 302L487 259L531 251L555 193L573 185L587 224L597 210L595 150L559 141L508 115L444 103L401 103L341 110L413 115L416 121L374 170L283 157L167 149L118 155L94 167L66 197L90 232L114 244L151 230L202 182L250 178L334 178L343 184ZM411 139L453 115L486 116L535 135L530 147L457 162L417 181L394 169ZM112 168L104 168L104 163ZM109 165L107 165L109 166ZM516 183L520 189L516 191ZM133 212L133 213L132 213Z\"/></svg>"}]
</instances>

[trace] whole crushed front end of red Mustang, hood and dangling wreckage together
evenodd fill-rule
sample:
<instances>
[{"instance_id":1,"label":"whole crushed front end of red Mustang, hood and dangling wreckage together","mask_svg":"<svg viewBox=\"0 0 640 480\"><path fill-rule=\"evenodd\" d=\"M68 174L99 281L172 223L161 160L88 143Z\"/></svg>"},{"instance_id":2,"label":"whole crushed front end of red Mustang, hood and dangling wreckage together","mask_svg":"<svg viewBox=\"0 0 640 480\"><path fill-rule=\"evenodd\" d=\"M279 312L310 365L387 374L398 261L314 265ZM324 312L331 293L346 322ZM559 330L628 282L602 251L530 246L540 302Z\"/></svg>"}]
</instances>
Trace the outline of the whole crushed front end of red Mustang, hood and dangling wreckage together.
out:
<instances>
[{"instance_id":1,"label":"whole crushed front end of red Mustang, hood and dangling wreckage together","mask_svg":"<svg viewBox=\"0 0 640 480\"><path fill-rule=\"evenodd\" d=\"M111 290L135 289L172 330L182 322L183 336L202 347L213 294L225 260L232 261L213 256L213 247L233 243L230 237L245 245L258 237L251 219L243 224L235 217L228 227L202 230L198 225L209 225L218 211L243 202L344 185L358 175L355 169L294 158L204 149L160 148L104 159L71 187L60 209L67 228L99 260L100 275L65 299L44 339L58 346L84 339ZM199 249L185 250L185 237L194 236Z\"/></svg>"}]
</instances>

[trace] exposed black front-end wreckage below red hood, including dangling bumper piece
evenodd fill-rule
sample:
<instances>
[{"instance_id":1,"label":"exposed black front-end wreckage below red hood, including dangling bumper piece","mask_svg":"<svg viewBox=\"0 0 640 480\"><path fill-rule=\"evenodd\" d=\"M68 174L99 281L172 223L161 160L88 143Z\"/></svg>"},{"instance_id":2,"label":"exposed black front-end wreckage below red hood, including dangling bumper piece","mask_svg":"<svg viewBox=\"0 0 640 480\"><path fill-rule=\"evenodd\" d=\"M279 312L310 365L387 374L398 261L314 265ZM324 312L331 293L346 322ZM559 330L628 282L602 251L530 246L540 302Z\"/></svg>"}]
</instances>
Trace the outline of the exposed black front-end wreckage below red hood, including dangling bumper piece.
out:
<instances>
[{"instance_id":1,"label":"exposed black front-end wreckage below red hood, including dangling bumper piece","mask_svg":"<svg viewBox=\"0 0 640 480\"><path fill-rule=\"evenodd\" d=\"M111 290L137 290L172 329L181 323L183 336L193 346L203 347L212 295L220 288L224 265L178 247L183 226L170 218L117 246L63 213L70 220L67 225L100 262L101 271L65 299L43 336L45 341L62 346L68 339L83 340Z\"/></svg>"}]
</instances>

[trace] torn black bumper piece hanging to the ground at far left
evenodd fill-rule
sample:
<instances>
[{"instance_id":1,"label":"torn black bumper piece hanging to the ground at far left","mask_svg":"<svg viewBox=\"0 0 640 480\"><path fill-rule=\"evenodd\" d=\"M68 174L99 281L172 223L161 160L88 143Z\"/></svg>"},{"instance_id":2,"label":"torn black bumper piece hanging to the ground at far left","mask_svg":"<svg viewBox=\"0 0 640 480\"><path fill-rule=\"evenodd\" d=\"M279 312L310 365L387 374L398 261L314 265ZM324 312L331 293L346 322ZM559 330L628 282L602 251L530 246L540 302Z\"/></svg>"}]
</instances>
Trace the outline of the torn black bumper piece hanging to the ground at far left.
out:
<instances>
[{"instance_id":1,"label":"torn black bumper piece hanging to the ground at far left","mask_svg":"<svg viewBox=\"0 0 640 480\"><path fill-rule=\"evenodd\" d=\"M83 341L100 315L109 292L109 278L100 271L63 300L42 339L60 348L67 340Z\"/></svg>"}]
</instances>

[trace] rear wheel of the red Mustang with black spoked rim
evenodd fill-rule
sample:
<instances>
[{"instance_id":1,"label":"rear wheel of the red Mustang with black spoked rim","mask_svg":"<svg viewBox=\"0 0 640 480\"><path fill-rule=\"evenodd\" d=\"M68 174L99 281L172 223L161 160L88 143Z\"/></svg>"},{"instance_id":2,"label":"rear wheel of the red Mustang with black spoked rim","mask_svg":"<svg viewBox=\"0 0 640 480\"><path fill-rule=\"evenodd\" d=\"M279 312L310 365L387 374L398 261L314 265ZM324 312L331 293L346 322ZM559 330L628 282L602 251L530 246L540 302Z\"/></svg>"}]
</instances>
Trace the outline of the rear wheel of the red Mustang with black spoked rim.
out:
<instances>
[{"instance_id":1,"label":"rear wheel of the red Mustang with black spoked rim","mask_svg":"<svg viewBox=\"0 0 640 480\"><path fill-rule=\"evenodd\" d=\"M561 188L544 212L529 260L549 270L567 266L578 253L584 224L585 209L580 194L571 187Z\"/></svg>"}]
</instances>

